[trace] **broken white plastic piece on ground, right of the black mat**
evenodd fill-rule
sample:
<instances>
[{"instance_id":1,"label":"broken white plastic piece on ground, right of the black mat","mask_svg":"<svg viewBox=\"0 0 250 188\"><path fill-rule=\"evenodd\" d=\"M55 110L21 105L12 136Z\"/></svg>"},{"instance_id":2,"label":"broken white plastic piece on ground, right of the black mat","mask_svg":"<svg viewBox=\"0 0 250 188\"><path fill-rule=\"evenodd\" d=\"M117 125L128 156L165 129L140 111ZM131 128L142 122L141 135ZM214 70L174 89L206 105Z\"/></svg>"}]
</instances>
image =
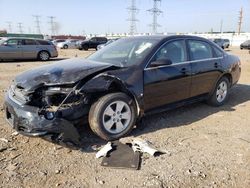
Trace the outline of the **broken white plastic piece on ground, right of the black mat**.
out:
<instances>
[{"instance_id":1,"label":"broken white plastic piece on ground, right of the black mat","mask_svg":"<svg viewBox=\"0 0 250 188\"><path fill-rule=\"evenodd\" d=\"M152 156L154 156L157 152L165 153L165 151L154 148L154 146L150 142L140 138L136 138L132 141L132 149L134 152L148 153Z\"/></svg>"}]
</instances>

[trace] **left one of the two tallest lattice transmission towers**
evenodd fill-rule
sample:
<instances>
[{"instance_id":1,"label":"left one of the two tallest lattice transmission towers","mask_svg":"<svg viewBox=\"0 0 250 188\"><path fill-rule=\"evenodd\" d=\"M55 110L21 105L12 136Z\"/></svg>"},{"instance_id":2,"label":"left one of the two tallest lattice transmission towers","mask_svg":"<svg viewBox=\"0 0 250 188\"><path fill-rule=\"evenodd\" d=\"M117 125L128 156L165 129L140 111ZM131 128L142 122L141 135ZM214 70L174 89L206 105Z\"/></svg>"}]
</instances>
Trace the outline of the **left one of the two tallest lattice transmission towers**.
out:
<instances>
[{"instance_id":1,"label":"left one of the two tallest lattice transmission towers","mask_svg":"<svg viewBox=\"0 0 250 188\"><path fill-rule=\"evenodd\" d=\"M136 19L136 14L138 13L139 9L136 7L136 0L131 0L131 6L127 8L129 11L129 18L127 21L130 22L129 26L129 34L134 35L136 33L136 22L139 20Z\"/></svg>"}]
</instances>

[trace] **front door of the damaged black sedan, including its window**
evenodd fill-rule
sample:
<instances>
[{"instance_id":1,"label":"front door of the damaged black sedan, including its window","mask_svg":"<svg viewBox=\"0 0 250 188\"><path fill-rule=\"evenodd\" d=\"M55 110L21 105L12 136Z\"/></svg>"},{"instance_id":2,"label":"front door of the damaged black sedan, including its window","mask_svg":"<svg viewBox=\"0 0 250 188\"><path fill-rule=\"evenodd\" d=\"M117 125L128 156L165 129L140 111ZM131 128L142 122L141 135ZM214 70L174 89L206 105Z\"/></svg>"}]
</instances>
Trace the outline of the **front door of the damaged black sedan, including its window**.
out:
<instances>
[{"instance_id":1,"label":"front door of the damaged black sedan, including its window","mask_svg":"<svg viewBox=\"0 0 250 188\"><path fill-rule=\"evenodd\" d=\"M159 59L172 61L171 65L151 67ZM145 111L189 98L191 65L187 61L185 40L165 43L144 70Z\"/></svg>"}]
</instances>

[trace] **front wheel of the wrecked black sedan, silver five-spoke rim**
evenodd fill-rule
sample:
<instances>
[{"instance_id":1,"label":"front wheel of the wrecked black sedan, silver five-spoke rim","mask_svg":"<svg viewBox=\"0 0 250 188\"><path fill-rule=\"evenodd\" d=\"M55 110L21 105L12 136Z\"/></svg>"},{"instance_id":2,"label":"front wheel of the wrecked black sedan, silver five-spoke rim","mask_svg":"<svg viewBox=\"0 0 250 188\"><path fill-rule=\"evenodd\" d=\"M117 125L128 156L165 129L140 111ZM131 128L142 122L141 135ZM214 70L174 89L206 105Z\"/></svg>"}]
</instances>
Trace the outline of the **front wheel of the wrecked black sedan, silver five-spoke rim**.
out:
<instances>
[{"instance_id":1,"label":"front wheel of the wrecked black sedan, silver five-spoke rim","mask_svg":"<svg viewBox=\"0 0 250 188\"><path fill-rule=\"evenodd\" d=\"M136 118L135 103L124 93L101 97L89 112L90 128L104 140L116 140L127 135L133 129Z\"/></svg>"}]
</instances>

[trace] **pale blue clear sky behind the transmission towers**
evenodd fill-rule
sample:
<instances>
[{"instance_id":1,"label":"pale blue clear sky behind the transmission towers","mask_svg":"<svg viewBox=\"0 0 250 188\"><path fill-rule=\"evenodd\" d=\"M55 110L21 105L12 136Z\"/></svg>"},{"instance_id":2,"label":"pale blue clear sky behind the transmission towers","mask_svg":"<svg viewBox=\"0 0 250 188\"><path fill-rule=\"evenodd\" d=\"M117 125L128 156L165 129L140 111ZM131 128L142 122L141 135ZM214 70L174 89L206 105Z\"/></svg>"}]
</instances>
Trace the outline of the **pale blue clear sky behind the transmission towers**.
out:
<instances>
[{"instance_id":1,"label":"pale blue clear sky behind the transmission towers","mask_svg":"<svg viewBox=\"0 0 250 188\"><path fill-rule=\"evenodd\" d=\"M35 33L35 18L40 15L43 34L50 34L49 16L54 16L59 34L83 35L129 32L127 7L131 0L0 0L0 30L11 22L12 32ZM152 31L152 15L146 10L153 0L136 0L138 33ZM250 32L250 0L162 0L158 32L186 33L236 31L243 8L242 31Z\"/></svg>"}]
</instances>

